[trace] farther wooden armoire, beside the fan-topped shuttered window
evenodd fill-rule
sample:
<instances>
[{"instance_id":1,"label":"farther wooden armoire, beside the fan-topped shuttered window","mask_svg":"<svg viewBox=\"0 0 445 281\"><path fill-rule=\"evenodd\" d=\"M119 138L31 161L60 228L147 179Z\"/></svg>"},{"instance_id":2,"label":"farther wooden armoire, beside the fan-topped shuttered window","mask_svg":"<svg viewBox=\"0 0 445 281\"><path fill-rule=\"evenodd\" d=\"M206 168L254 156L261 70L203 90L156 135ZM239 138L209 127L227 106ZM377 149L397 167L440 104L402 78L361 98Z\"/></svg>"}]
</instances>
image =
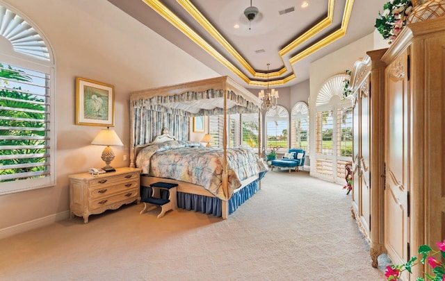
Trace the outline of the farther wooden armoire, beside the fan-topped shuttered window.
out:
<instances>
[{"instance_id":1,"label":"farther wooden armoire, beside the fan-topped shuttered window","mask_svg":"<svg viewBox=\"0 0 445 281\"><path fill-rule=\"evenodd\" d=\"M387 49L369 51L355 63L350 77L353 90L353 206L351 211L368 241L372 266L386 253L385 195L385 62Z\"/></svg>"}]
</instances>

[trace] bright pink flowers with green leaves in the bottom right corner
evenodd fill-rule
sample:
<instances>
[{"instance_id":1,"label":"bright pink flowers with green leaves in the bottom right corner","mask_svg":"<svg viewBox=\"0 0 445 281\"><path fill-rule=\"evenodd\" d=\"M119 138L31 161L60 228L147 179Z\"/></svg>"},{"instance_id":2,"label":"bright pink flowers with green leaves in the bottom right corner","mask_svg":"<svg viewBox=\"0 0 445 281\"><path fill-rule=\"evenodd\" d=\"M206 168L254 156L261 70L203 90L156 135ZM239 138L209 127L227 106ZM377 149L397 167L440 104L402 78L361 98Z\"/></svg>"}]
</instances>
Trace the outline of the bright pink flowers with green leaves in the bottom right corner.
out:
<instances>
[{"instance_id":1,"label":"bright pink flowers with green leaves in the bottom right corner","mask_svg":"<svg viewBox=\"0 0 445 281\"><path fill-rule=\"evenodd\" d=\"M425 273L427 280L445 281L445 264L434 257L440 253L442 258L445 259L445 240L443 242L437 242L436 245L439 250L432 250L428 245L419 247L419 255L421 255L420 262L425 264L428 260L428 264L432 267L433 275ZM414 256L406 264L387 266L385 276L388 278L387 280L398 280L403 271L406 270L409 273L412 273L412 266L415 266L416 264L419 264L419 259ZM419 277L416 281L425 281L425 278Z\"/></svg>"}]
</instances>

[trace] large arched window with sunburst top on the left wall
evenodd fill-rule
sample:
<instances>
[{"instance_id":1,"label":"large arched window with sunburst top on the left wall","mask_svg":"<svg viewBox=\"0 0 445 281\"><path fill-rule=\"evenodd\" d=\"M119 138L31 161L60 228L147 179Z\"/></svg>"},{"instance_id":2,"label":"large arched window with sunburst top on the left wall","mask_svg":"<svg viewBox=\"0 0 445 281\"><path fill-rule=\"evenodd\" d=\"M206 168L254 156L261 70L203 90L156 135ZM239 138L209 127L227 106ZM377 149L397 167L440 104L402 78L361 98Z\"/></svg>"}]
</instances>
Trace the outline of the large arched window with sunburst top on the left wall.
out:
<instances>
[{"instance_id":1,"label":"large arched window with sunburst top on the left wall","mask_svg":"<svg viewBox=\"0 0 445 281\"><path fill-rule=\"evenodd\" d=\"M0 194L55 184L54 57L33 23L0 2Z\"/></svg>"}]
</instances>

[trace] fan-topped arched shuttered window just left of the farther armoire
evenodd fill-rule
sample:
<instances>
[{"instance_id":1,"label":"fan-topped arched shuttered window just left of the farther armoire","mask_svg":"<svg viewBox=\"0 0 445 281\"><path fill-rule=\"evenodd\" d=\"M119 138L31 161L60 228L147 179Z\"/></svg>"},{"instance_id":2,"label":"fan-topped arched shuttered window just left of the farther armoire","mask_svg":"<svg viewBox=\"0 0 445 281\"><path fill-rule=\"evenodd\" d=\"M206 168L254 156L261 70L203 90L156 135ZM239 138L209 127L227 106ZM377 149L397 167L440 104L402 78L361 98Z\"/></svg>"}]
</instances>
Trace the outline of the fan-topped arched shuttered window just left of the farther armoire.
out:
<instances>
[{"instance_id":1,"label":"fan-topped arched shuttered window just left of the farther armoire","mask_svg":"<svg viewBox=\"0 0 445 281\"><path fill-rule=\"evenodd\" d=\"M316 174L343 182L345 164L352 160L352 102L345 99L344 74L333 76L321 87L316 99Z\"/></svg>"}]
</instances>

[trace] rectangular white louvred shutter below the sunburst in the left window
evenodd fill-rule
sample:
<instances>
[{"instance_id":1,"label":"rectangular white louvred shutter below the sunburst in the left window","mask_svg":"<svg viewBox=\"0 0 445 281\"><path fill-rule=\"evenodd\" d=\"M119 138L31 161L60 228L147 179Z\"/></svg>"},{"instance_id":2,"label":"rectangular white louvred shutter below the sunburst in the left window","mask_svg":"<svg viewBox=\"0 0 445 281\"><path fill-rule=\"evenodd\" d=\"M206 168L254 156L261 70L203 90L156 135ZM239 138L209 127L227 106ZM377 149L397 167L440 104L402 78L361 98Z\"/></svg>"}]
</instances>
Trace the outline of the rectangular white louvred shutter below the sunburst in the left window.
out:
<instances>
[{"instance_id":1,"label":"rectangular white louvred shutter below the sunburst in the left window","mask_svg":"<svg viewBox=\"0 0 445 281\"><path fill-rule=\"evenodd\" d=\"M0 70L0 182L47 177L49 74L5 63Z\"/></svg>"}]
</instances>

